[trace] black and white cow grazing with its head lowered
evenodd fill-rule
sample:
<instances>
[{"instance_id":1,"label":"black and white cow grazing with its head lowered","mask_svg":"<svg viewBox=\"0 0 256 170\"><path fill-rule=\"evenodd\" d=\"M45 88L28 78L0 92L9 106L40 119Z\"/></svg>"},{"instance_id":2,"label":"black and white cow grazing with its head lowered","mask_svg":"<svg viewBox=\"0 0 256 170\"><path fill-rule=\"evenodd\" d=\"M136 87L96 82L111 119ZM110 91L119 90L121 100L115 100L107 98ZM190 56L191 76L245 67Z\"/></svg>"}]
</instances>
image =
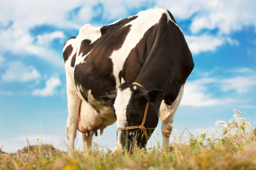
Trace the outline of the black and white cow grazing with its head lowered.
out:
<instances>
[{"instance_id":1,"label":"black and white cow grazing with its head lowered","mask_svg":"<svg viewBox=\"0 0 256 170\"><path fill-rule=\"evenodd\" d=\"M67 40L63 57L69 150L74 148L77 129L87 149L92 135L97 136L99 129L102 135L115 121L117 128L141 125L147 102L147 134L153 133L160 118L163 149L169 144L174 113L194 63L182 30L168 10L141 11L103 27L86 24L77 37ZM145 145L143 133L134 136L138 129L127 131L128 141ZM118 130L116 149L124 147L127 131Z\"/></svg>"}]
</instances>

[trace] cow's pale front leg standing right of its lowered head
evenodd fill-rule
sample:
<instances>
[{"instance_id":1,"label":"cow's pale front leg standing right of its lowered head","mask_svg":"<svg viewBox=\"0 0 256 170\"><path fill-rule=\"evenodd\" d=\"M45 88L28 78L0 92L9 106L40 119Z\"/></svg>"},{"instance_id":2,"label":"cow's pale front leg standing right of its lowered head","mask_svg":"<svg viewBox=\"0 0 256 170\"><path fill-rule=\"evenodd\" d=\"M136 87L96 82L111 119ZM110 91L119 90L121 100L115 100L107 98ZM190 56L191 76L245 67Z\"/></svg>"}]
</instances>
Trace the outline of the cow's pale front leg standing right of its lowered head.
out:
<instances>
[{"instance_id":1,"label":"cow's pale front leg standing right of its lowered head","mask_svg":"<svg viewBox=\"0 0 256 170\"><path fill-rule=\"evenodd\" d=\"M169 145L169 138L172 133L172 122L174 119L175 112L179 106L181 99L182 99L183 90L184 90L184 85L182 85L182 87L180 88L179 95L174 100L174 102L172 102L171 106L166 105L164 103L164 101L161 103L161 106L160 106L160 112L161 111L168 112L167 115L169 115L169 117L167 117L166 120L163 120L162 124L161 124L161 133L162 133L162 137L163 137L163 145L162 145L163 151L166 151L166 147Z\"/></svg>"}]
</instances>

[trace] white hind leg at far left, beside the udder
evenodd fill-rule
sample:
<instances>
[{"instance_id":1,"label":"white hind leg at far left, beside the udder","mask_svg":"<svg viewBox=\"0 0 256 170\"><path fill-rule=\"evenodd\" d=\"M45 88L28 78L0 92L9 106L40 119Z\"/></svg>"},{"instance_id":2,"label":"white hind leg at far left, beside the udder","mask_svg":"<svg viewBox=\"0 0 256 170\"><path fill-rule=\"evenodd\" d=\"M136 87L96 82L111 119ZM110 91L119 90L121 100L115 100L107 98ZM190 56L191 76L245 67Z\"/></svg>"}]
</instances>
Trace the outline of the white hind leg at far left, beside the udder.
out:
<instances>
[{"instance_id":1,"label":"white hind leg at far left, beside the udder","mask_svg":"<svg viewBox=\"0 0 256 170\"><path fill-rule=\"evenodd\" d=\"M69 140L69 152L74 149L74 139L77 135L77 121L79 116L79 109L81 104L81 99L77 95L75 90L74 80L67 74L67 102L68 102L68 112L67 117L67 137Z\"/></svg>"}]
</instances>

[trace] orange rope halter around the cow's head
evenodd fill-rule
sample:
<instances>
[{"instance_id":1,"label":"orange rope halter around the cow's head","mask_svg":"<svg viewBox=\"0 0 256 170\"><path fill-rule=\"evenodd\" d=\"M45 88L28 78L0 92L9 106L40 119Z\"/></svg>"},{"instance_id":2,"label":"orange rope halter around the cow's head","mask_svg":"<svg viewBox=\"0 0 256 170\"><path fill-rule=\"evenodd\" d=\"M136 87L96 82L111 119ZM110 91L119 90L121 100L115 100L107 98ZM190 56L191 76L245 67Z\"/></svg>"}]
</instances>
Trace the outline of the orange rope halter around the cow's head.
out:
<instances>
[{"instance_id":1,"label":"orange rope halter around the cow's head","mask_svg":"<svg viewBox=\"0 0 256 170\"><path fill-rule=\"evenodd\" d=\"M132 83L133 85L138 85L138 86L141 86L142 88L144 88L141 84L139 84L138 82L133 82ZM146 107L145 107L145 111L144 111L144 117L143 117L143 120L141 122L141 125L139 126L128 126L128 127L125 127L125 128L118 128L117 130L129 130L129 129L141 129L145 135L145 138L146 138L146 143L145 143L145 146L148 142L148 134L147 134L147 131L146 131L146 128L144 127L144 123L146 121L146 116L147 116L147 113L148 113L148 102L146 104Z\"/></svg>"}]
</instances>

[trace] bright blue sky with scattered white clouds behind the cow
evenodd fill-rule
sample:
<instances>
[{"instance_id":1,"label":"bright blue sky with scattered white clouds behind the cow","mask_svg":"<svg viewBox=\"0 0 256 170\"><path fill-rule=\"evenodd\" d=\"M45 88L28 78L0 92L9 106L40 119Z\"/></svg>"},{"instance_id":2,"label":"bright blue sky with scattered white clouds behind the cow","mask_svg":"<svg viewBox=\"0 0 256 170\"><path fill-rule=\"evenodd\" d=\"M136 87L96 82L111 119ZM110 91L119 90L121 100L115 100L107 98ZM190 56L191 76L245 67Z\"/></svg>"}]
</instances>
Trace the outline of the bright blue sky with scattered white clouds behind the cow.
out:
<instances>
[{"instance_id":1,"label":"bright blue sky with scattered white clouds behind the cow","mask_svg":"<svg viewBox=\"0 0 256 170\"><path fill-rule=\"evenodd\" d=\"M6 152L22 149L26 138L67 150L64 42L86 23L108 25L155 7L172 13L195 62L172 134L218 129L214 122L228 122L233 109L256 120L255 0L1 0L0 6L0 147ZM148 147L161 144L160 127L159 120ZM116 124L94 142L113 149ZM75 147L81 144L78 133Z\"/></svg>"}]
</instances>

